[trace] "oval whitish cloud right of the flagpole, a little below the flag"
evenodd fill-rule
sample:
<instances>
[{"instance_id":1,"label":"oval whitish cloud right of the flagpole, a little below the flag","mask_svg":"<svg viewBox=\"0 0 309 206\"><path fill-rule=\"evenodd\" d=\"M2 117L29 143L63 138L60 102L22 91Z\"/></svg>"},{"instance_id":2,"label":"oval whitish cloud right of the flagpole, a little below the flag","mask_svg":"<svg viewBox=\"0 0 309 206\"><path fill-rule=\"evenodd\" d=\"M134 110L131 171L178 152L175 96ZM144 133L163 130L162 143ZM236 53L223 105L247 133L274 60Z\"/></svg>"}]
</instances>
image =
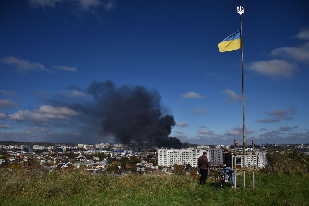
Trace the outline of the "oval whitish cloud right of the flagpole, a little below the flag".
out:
<instances>
[{"instance_id":1,"label":"oval whitish cloud right of the flagpole, a little below the flag","mask_svg":"<svg viewBox=\"0 0 309 206\"><path fill-rule=\"evenodd\" d=\"M248 69L266 76L289 78L297 67L285 60L273 59L253 62Z\"/></svg>"}]
</instances>

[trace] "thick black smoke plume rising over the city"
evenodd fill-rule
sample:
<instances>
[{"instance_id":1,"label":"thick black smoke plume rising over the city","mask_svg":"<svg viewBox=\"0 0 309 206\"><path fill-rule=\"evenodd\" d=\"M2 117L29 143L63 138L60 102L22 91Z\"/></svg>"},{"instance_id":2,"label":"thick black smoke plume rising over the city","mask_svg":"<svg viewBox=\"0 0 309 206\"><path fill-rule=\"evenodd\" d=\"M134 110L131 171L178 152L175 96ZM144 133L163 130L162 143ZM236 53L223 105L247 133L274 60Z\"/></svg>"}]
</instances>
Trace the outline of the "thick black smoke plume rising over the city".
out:
<instances>
[{"instance_id":1,"label":"thick black smoke plume rising over the city","mask_svg":"<svg viewBox=\"0 0 309 206\"><path fill-rule=\"evenodd\" d=\"M169 136L176 122L173 115L165 114L167 109L161 105L158 91L94 81L87 92L95 98L95 115L102 122L102 134L112 134L121 143L150 142L158 147L181 147L179 139Z\"/></svg>"}]
</instances>

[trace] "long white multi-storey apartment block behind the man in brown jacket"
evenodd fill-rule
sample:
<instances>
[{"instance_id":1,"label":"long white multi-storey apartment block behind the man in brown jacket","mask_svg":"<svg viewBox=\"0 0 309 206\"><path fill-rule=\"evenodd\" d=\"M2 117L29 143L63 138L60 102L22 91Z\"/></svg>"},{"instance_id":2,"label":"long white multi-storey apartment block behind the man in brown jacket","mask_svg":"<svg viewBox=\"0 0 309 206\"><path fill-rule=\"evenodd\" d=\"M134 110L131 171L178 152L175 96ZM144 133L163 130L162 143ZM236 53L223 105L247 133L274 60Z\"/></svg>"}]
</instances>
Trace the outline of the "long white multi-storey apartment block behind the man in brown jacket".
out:
<instances>
[{"instance_id":1,"label":"long white multi-storey apartment block behind the man in brown jacket","mask_svg":"<svg viewBox=\"0 0 309 206\"><path fill-rule=\"evenodd\" d=\"M221 149L158 149L158 165L171 166L174 164L190 164L192 167L197 167L197 160L207 152L207 158L211 166L222 164L222 150Z\"/></svg>"}]
</instances>

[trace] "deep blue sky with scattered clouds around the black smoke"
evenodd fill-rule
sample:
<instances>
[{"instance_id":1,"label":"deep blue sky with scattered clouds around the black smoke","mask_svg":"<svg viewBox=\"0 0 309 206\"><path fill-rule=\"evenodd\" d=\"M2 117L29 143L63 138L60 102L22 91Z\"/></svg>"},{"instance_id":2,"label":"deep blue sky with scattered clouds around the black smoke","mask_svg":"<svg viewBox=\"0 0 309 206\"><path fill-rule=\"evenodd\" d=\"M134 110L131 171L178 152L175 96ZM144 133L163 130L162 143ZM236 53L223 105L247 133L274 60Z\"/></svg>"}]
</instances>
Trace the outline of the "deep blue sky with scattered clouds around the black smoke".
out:
<instances>
[{"instance_id":1,"label":"deep blue sky with scattered clouds around the black smoke","mask_svg":"<svg viewBox=\"0 0 309 206\"><path fill-rule=\"evenodd\" d=\"M157 90L182 142L242 141L241 50L217 46L240 5L246 139L308 143L307 1L2 1L0 140L115 142L73 106L111 80Z\"/></svg>"}]
</instances>

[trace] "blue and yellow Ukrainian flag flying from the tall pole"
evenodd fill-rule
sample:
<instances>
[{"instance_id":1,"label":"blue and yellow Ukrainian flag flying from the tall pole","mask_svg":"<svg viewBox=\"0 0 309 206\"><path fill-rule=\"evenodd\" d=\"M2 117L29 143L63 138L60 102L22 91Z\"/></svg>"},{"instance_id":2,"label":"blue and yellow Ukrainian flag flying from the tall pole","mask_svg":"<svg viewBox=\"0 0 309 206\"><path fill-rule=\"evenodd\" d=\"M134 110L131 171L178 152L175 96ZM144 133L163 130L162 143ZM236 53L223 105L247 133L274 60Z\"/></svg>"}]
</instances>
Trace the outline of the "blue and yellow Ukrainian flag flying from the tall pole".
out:
<instances>
[{"instance_id":1,"label":"blue and yellow Ukrainian flag flying from the tall pole","mask_svg":"<svg viewBox=\"0 0 309 206\"><path fill-rule=\"evenodd\" d=\"M219 51L233 51L241 48L241 32L240 29L234 34L226 37L218 44Z\"/></svg>"}]
</instances>

